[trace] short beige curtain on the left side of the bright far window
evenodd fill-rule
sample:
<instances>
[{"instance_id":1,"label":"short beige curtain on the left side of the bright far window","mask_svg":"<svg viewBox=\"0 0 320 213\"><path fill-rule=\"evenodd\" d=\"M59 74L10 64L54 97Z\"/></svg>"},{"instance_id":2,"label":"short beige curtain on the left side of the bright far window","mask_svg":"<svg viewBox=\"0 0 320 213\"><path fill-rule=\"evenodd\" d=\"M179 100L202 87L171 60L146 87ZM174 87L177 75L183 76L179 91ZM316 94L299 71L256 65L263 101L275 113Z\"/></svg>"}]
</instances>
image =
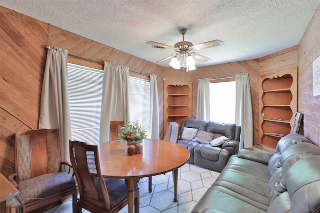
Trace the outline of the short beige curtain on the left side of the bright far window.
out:
<instances>
[{"instance_id":1,"label":"short beige curtain on the left side of the bright far window","mask_svg":"<svg viewBox=\"0 0 320 213\"><path fill-rule=\"evenodd\" d=\"M198 79L196 100L196 119L210 120L210 88L209 78Z\"/></svg>"}]
</instances>

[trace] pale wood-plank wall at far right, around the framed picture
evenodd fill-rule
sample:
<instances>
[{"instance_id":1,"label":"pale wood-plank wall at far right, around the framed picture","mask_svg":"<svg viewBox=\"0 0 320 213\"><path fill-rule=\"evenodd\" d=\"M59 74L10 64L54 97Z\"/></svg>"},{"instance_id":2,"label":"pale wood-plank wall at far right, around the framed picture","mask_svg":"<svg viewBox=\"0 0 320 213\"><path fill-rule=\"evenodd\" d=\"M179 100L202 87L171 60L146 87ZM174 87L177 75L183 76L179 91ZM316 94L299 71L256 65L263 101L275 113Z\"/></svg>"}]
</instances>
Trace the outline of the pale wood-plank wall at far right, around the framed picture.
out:
<instances>
[{"instance_id":1,"label":"pale wood-plank wall at far right, around the framed picture","mask_svg":"<svg viewBox=\"0 0 320 213\"><path fill-rule=\"evenodd\" d=\"M298 49L298 112L303 113L303 134L320 147L320 96L313 96L312 62L320 55L320 4Z\"/></svg>"}]
</instances>

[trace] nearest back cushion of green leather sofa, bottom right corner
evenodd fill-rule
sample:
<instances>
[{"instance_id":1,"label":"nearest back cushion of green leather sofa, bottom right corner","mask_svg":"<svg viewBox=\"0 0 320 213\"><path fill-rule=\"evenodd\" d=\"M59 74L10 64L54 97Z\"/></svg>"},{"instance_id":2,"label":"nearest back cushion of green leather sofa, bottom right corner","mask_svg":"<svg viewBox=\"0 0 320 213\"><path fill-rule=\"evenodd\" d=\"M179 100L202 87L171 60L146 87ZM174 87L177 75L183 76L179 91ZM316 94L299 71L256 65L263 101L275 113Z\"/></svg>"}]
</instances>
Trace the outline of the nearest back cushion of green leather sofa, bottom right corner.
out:
<instances>
[{"instance_id":1,"label":"nearest back cushion of green leather sofa, bottom right corner","mask_svg":"<svg viewBox=\"0 0 320 213\"><path fill-rule=\"evenodd\" d=\"M320 155L310 155L298 160L288 169L278 184L278 188L281 188L277 190L279 195L270 202L269 213L273 213L274 210L281 213L318 212L320 207L319 161ZM285 203L287 205L284 205Z\"/></svg>"}]
</instances>

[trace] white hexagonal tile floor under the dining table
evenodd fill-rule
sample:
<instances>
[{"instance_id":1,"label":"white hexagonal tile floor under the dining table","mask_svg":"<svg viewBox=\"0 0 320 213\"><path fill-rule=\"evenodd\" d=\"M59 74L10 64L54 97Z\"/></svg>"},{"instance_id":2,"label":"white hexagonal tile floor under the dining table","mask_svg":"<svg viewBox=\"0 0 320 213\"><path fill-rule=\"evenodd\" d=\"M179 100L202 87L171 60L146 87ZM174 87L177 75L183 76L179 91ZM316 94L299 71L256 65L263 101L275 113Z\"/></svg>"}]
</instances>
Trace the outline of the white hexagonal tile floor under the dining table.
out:
<instances>
[{"instance_id":1,"label":"white hexagonal tile floor under the dining table","mask_svg":"<svg viewBox=\"0 0 320 213\"><path fill-rule=\"evenodd\" d=\"M178 201L173 202L172 173L152 177L152 192L148 192L147 178L140 179L140 213L189 213L206 190L219 176L219 172L193 164L185 164L178 170ZM45 213L71 213L72 202L68 200ZM82 213L89 213L82 210ZM127 213L127 206L119 213Z\"/></svg>"}]
</instances>

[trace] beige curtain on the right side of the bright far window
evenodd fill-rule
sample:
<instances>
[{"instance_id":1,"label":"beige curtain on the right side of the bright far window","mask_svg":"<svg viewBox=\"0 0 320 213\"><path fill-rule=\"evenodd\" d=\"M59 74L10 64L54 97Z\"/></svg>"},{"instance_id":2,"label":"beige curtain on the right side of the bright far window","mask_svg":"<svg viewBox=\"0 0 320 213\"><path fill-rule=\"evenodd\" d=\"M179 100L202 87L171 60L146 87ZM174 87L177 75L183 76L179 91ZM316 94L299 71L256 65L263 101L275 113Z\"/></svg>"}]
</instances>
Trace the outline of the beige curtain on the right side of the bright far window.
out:
<instances>
[{"instance_id":1,"label":"beige curtain on the right side of the bright far window","mask_svg":"<svg viewBox=\"0 0 320 213\"><path fill-rule=\"evenodd\" d=\"M241 126L239 150L252 147L252 103L248 73L235 75L235 124Z\"/></svg>"}]
</instances>

